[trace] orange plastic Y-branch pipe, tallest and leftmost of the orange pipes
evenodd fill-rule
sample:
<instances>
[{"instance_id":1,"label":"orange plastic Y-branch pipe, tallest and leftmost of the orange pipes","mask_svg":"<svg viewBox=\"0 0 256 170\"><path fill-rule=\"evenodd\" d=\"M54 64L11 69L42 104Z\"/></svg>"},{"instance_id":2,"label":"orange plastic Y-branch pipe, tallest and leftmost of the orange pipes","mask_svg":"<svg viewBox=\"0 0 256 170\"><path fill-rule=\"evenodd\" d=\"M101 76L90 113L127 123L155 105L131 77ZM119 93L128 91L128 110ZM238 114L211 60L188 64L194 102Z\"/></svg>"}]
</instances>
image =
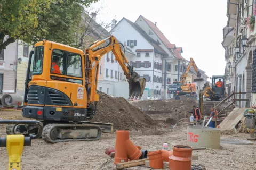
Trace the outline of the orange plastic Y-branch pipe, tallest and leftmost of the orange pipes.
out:
<instances>
[{"instance_id":1,"label":"orange plastic Y-branch pipe, tallest and leftmost of the orange pipes","mask_svg":"<svg viewBox=\"0 0 256 170\"><path fill-rule=\"evenodd\" d=\"M116 145L114 164L127 162L129 160L137 160L140 158L142 152L129 139L129 131L116 131Z\"/></svg>"}]
</instances>

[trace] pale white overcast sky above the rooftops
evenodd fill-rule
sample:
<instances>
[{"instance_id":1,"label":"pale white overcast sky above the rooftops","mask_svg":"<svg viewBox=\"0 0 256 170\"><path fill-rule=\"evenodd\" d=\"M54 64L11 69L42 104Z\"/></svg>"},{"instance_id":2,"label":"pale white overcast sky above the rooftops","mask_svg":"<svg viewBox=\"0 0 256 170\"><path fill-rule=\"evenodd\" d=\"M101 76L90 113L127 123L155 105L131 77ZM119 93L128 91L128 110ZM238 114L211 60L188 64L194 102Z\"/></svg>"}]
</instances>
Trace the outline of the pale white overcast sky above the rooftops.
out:
<instances>
[{"instance_id":1,"label":"pale white overcast sky above the rooftops","mask_svg":"<svg viewBox=\"0 0 256 170\"><path fill-rule=\"evenodd\" d=\"M97 21L119 22L123 17L135 22L142 15L152 22L182 56L194 58L196 65L211 77L225 73L222 29L227 25L227 0L100 0L93 4L103 9Z\"/></svg>"}]
</instances>

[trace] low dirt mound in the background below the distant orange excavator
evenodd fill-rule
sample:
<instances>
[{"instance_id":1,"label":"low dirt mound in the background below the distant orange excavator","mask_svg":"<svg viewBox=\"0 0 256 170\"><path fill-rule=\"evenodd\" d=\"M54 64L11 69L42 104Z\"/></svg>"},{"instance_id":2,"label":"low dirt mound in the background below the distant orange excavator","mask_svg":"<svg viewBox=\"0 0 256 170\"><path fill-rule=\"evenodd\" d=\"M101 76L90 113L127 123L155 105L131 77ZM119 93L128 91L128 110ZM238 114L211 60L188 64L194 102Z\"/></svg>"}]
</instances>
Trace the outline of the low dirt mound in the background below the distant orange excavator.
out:
<instances>
[{"instance_id":1,"label":"low dirt mound in the background below the distant orange excavator","mask_svg":"<svg viewBox=\"0 0 256 170\"><path fill-rule=\"evenodd\" d=\"M193 105L198 105L195 99L183 99L179 101L167 100L167 101L138 101L133 103L141 111L145 111L147 114L169 114L170 118L179 120L185 117L186 111L192 111ZM186 114L189 117L190 114Z\"/></svg>"}]
</instances>

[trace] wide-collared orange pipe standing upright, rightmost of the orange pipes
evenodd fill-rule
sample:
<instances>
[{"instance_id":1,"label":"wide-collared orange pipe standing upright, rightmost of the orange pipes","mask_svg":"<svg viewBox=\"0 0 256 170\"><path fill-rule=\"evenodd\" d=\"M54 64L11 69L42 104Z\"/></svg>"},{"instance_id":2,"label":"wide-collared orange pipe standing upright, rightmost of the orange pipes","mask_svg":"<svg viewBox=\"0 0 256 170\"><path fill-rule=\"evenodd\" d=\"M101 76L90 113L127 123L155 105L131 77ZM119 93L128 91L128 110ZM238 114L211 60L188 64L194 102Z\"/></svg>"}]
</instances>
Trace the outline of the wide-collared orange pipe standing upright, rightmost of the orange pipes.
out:
<instances>
[{"instance_id":1,"label":"wide-collared orange pipe standing upright, rightmost of the orange pipes","mask_svg":"<svg viewBox=\"0 0 256 170\"><path fill-rule=\"evenodd\" d=\"M170 170L191 170L192 165L192 147L175 145L173 155L169 157Z\"/></svg>"}]
</instances>

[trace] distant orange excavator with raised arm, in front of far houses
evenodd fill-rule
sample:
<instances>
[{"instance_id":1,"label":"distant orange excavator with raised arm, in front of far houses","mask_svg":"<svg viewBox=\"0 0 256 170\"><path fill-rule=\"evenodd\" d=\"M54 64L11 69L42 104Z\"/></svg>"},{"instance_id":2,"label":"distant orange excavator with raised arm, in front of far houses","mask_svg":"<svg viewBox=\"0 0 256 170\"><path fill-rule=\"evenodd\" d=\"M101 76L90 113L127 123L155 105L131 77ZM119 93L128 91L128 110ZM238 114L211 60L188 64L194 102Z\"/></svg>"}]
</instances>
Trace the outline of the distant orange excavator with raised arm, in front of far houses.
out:
<instances>
[{"instance_id":1,"label":"distant orange excavator with raised arm, in front of far houses","mask_svg":"<svg viewBox=\"0 0 256 170\"><path fill-rule=\"evenodd\" d=\"M187 74L191 68L191 66L194 67L196 74L197 74L197 79L194 79L194 82L199 82L203 81L203 78L201 78L201 73L198 70L195 61L193 58L190 58L190 61L187 65L187 68L183 72L183 74L180 77L180 81L175 81L173 82L172 85L169 86L169 89L176 89L175 94L177 93L179 96L181 95L193 95L194 98L196 98L196 85L195 83L186 83L186 78Z\"/></svg>"}]
</instances>

